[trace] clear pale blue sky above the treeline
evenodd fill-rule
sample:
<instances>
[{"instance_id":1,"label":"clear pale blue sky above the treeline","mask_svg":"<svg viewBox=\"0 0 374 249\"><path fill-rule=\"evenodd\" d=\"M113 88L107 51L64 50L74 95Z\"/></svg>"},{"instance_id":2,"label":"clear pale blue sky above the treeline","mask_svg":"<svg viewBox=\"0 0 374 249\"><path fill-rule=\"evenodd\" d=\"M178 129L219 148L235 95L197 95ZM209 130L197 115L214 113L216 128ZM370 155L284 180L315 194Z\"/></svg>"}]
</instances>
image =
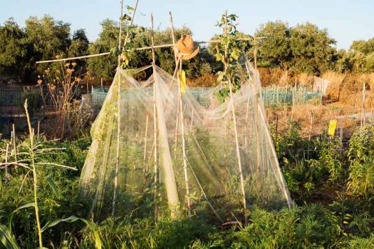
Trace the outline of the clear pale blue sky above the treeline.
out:
<instances>
[{"instance_id":1,"label":"clear pale blue sky above the treeline","mask_svg":"<svg viewBox=\"0 0 374 249\"><path fill-rule=\"evenodd\" d=\"M133 5L134 0L125 0ZM355 39L374 37L374 0L139 0L136 24L150 26L154 13L155 28L169 26L172 11L175 26L186 25L196 40L209 39L220 30L215 27L220 15L228 10L240 17L239 29L253 33L267 21L287 21L290 25L310 21L327 28L338 48L349 48ZM9 17L24 26L31 15L51 15L69 22L73 30L84 28L92 41L100 33L100 21L118 19L120 0L0 0L0 22Z\"/></svg>"}]
</instances>

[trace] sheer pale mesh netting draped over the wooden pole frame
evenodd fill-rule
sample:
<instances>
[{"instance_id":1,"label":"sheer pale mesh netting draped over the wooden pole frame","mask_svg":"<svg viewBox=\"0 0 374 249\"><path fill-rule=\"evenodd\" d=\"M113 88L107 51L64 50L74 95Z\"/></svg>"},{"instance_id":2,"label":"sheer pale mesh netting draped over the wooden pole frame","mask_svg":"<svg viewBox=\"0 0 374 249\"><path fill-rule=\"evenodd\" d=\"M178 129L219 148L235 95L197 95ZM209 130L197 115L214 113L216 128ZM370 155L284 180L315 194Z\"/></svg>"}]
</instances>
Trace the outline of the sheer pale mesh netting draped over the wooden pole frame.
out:
<instances>
[{"instance_id":1,"label":"sheer pale mesh netting draped over the wooden pole frame","mask_svg":"<svg viewBox=\"0 0 374 249\"><path fill-rule=\"evenodd\" d=\"M147 82L134 79L148 68L117 70L91 129L81 184L96 218L189 211L242 219L243 193L247 209L292 205L257 71L242 76L240 90L221 104L215 89L180 91L179 79L157 66Z\"/></svg>"}]
</instances>

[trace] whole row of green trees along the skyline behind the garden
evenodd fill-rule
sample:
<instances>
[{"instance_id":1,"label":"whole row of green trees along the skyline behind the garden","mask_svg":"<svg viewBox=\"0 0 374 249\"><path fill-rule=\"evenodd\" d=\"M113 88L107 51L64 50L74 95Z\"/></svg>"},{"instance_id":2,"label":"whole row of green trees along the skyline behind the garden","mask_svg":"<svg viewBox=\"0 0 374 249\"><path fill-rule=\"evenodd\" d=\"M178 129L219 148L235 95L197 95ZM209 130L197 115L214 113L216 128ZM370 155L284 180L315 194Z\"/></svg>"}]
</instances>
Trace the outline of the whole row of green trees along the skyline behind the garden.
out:
<instances>
[{"instance_id":1,"label":"whole row of green trees along the skyline behind the garden","mask_svg":"<svg viewBox=\"0 0 374 249\"><path fill-rule=\"evenodd\" d=\"M236 17L236 16L235 16ZM76 63L91 75L112 78L118 64L118 22L105 19L101 23L98 39L89 42L84 29L72 32L69 23L59 21L51 16L42 18L29 17L24 28L14 19L0 24L0 73L10 75L19 81L35 79L46 67L53 64L35 66L35 62L60 57L76 57L112 51L111 55L77 60ZM152 61L150 50L135 50L150 46L151 32L142 26L124 27L129 33L129 41L123 55L129 67L140 67ZM192 35L187 27L175 29L175 37L181 34ZM240 33L241 37L253 37ZM374 71L374 38L367 41L353 42L349 50L337 50L335 40L328 30L320 29L314 24L305 23L290 26L283 21L269 21L262 24L257 32L258 66L281 67L296 73L319 75L327 70L336 71ZM220 35L213 36L213 39ZM171 44L170 30L155 30L156 44ZM222 70L222 63L217 58L214 46L202 45L197 57L184 62L187 76L199 77L206 73L217 73ZM253 55L253 40L242 46L249 57ZM157 64L168 73L174 69L174 54L170 48L155 49Z\"/></svg>"}]
</instances>

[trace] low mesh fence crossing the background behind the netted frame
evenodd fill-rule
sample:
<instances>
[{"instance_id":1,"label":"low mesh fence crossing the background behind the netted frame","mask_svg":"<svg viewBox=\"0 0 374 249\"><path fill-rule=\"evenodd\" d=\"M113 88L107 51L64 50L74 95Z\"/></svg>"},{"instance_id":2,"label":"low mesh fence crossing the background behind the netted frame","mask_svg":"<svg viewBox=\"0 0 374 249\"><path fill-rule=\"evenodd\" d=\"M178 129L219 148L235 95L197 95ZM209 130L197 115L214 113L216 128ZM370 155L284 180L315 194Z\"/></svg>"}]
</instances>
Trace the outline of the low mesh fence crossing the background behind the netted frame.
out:
<instances>
[{"instance_id":1,"label":"low mesh fence crossing the background behind the netted frame","mask_svg":"<svg viewBox=\"0 0 374 249\"><path fill-rule=\"evenodd\" d=\"M212 88L195 87L190 89L196 100L208 107L211 103ZM100 109L107 96L109 87L102 86L91 89L86 95L92 108ZM83 92L80 92L83 95ZM280 104L321 104L321 93L313 93L300 86L268 86L262 89L262 98L267 107ZM30 111L42 113L44 108L51 106L51 98L46 86L4 86L0 89L0 117L24 116L24 102L28 100Z\"/></svg>"}]
</instances>

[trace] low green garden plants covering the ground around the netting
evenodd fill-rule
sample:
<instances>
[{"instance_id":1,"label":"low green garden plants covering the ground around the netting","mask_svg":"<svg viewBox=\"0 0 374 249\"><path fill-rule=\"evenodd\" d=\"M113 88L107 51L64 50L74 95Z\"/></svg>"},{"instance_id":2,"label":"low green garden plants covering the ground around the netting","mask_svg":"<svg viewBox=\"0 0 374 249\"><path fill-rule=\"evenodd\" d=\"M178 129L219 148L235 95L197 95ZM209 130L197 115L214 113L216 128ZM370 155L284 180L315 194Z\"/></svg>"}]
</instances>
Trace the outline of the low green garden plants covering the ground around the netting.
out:
<instances>
[{"instance_id":1,"label":"low green garden plants covering the ground around the netting","mask_svg":"<svg viewBox=\"0 0 374 249\"><path fill-rule=\"evenodd\" d=\"M368 124L354 133L344 154L333 150L338 141L326 136L308 144L296 124L277 138L281 167L296 205L292 210L249 210L249 225L222 227L211 216L194 214L177 221L152 214L118 216L100 222L77 219L56 223L42 236L47 248L372 248L374 247L374 132ZM26 150L20 138L18 151ZM47 141L42 148L64 147L58 154L41 155L40 160L77 167L38 169L39 214L42 226L72 215L87 218L90 200L82 199L80 169L90 138L71 142ZM312 148L310 158L301 149ZM6 148L6 140L0 142ZM326 149L328 148L328 149ZM19 158L22 158L19 155ZM1 152L0 160L4 156ZM10 158L12 160L12 158ZM19 159L20 160L20 159ZM0 240L8 247L35 248L38 243L33 208L17 210L33 202L33 181L22 181L26 170L11 167L8 177L1 170ZM51 188L51 181L55 190ZM17 210L17 211L15 211ZM9 230L10 228L10 230ZM8 233L7 233L8 232ZM3 235L6 234L6 235ZM10 243L12 242L12 243ZM0 246L1 247L1 246Z\"/></svg>"}]
</instances>

